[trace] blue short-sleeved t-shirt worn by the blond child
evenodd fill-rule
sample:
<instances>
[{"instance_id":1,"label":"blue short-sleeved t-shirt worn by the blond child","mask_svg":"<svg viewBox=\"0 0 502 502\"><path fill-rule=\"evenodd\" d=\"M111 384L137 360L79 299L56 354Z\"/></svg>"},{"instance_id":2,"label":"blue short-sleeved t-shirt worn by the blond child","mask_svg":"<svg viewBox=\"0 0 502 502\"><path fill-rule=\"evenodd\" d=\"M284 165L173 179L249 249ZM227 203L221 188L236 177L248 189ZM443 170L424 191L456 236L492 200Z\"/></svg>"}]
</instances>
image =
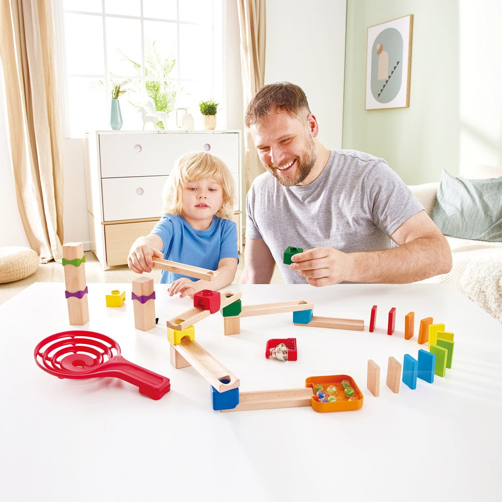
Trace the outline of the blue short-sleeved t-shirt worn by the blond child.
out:
<instances>
[{"instance_id":1,"label":"blue short-sleeved t-shirt worn by the blond child","mask_svg":"<svg viewBox=\"0 0 502 502\"><path fill-rule=\"evenodd\" d=\"M182 216L164 214L152 233L162 239L161 251L165 260L216 270L222 258L239 258L237 225L229 219L213 216L209 228L195 230ZM163 270L160 282L170 284L181 277L189 276Z\"/></svg>"}]
</instances>

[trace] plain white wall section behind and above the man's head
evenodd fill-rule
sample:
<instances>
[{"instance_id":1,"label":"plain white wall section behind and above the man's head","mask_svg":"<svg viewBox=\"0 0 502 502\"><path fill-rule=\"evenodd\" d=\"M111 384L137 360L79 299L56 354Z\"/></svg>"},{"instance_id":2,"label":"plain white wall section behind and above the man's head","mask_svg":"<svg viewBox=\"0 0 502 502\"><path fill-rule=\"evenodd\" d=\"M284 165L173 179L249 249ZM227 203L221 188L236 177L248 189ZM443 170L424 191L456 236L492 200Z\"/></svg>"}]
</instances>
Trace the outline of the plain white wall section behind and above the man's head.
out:
<instances>
[{"instance_id":1,"label":"plain white wall section behind and above the man's head","mask_svg":"<svg viewBox=\"0 0 502 502\"><path fill-rule=\"evenodd\" d=\"M267 0L266 9L265 83L302 87L320 141L341 148L345 0Z\"/></svg>"}]
</instances>

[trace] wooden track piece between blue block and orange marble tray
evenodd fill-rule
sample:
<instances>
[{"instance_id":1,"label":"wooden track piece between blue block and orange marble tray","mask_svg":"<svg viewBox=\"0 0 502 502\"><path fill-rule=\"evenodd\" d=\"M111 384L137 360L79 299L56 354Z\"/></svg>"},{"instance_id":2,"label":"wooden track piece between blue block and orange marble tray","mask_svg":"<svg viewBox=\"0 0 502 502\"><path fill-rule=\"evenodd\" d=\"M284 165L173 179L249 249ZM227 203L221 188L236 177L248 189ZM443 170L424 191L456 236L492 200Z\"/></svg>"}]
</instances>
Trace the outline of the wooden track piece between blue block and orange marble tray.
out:
<instances>
[{"instance_id":1,"label":"wooden track piece between blue block and orange marble tray","mask_svg":"<svg viewBox=\"0 0 502 502\"><path fill-rule=\"evenodd\" d=\"M230 411L272 410L276 408L298 408L312 406L312 387L279 391L256 391L239 393L239 404Z\"/></svg>"}]
</instances>

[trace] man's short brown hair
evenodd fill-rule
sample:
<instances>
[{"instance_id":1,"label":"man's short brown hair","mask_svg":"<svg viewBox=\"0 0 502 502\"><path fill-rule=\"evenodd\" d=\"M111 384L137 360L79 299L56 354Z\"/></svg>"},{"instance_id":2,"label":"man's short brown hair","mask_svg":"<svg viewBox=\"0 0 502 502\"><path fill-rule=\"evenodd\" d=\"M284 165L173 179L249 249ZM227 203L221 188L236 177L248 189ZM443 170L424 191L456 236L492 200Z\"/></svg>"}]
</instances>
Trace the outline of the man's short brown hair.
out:
<instances>
[{"instance_id":1,"label":"man's short brown hair","mask_svg":"<svg viewBox=\"0 0 502 502\"><path fill-rule=\"evenodd\" d=\"M262 123L276 108L293 117L310 113L307 96L301 87L290 82L277 82L262 87L249 102L244 117L246 127Z\"/></svg>"}]
</instances>

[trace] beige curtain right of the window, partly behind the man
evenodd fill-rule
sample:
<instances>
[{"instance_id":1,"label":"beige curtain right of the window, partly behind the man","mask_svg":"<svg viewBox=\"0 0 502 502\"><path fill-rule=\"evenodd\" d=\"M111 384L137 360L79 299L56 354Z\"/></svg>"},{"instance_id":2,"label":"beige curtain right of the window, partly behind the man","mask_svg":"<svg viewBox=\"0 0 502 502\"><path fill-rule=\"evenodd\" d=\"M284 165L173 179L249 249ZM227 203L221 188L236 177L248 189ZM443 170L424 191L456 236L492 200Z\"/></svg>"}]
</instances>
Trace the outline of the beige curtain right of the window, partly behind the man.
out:
<instances>
[{"instance_id":1,"label":"beige curtain right of the window, partly behind the man","mask_svg":"<svg viewBox=\"0 0 502 502\"><path fill-rule=\"evenodd\" d=\"M265 83L265 0L238 0L238 12L245 109ZM244 148L244 178L247 191L253 180L265 169L248 130L244 131Z\"/></svg>"}]
</instances>

